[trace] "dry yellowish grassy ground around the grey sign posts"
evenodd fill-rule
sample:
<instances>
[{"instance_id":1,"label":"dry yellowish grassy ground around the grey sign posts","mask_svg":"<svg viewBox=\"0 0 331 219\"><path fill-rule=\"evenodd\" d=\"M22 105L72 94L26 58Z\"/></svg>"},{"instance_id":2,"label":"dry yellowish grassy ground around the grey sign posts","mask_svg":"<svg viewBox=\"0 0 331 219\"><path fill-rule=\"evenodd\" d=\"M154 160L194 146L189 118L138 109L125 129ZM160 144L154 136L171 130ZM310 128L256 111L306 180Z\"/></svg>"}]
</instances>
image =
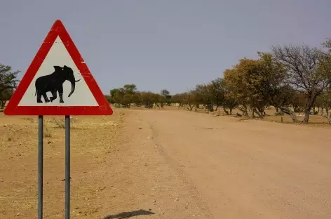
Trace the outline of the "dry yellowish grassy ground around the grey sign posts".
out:
<instances>
[{"instance_id":1,"label":"dry yellowish grassy ground around the grey sign posts","mask_svg":"<svg viewBox=\"0 0 331 219\"><path fill-rule=\"evenodd\" d=\"M94 218L100 164L116 147L123 114L71 119L72 218ZM36 218L37 117L0 114L0 218ZM44 218L63 218L64 117L44 117Z\"/></svg>"}]
</instances>

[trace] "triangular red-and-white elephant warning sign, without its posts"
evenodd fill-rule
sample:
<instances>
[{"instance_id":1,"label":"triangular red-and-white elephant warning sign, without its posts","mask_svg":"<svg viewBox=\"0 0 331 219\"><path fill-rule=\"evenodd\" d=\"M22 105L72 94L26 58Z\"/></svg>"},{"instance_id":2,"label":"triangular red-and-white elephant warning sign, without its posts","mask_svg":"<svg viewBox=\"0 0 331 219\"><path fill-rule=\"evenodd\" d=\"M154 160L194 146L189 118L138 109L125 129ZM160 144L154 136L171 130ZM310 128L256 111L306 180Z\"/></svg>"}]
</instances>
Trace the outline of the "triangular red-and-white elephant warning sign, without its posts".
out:
<instances>
[{"instance_id":1,"label":"triangular red-and-white elephant warning sign, without its posts","mask_svg":"<svg viewBox=\"0 0 331 219\"><path fill-rule=\"evenodd\" d=\"M65 26L56 20L4 110L6 115L111 115Z\"/></svg>"}]
</instances>

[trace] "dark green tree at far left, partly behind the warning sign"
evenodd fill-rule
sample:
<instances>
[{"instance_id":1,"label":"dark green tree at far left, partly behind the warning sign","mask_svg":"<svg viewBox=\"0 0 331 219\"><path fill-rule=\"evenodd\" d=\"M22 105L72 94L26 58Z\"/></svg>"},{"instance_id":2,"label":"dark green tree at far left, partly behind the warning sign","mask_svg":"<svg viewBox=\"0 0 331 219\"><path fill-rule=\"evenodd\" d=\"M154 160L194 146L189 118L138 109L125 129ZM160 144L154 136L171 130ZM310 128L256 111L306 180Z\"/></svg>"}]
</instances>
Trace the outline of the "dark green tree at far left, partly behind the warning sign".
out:
<instances>
[{"instance_id":1,"label":"dark green tree at far left, partly behind the warning sign","mask_svg":"<svg viewBox=\"0 0 331 219\"><path fill-rule=\"evenodd\" d=\"M18 85L17 74L20 71L13 72L11 66L0 64L0 103L4 108L6 102L11 99L11 95Z\"/></svg>"}]
</instances>

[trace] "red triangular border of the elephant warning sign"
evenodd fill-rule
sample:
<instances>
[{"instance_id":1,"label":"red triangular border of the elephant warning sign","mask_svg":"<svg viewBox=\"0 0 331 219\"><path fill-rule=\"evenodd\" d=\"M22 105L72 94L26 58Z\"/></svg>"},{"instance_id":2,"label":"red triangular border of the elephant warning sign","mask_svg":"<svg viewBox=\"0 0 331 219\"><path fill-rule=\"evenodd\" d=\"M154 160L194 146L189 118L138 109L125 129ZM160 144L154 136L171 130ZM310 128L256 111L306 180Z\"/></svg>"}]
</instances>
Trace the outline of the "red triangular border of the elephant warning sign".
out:
<instances>
[{"instance_id":1,"label":"red triangular border of the elephant warning sign","mask_svg":"<svg viewBox=\"0 0 331 219\"><path fill-rule=\"evenodd\" d=\"M98 106L18 106L20 100L22 99L25 91L29 87L29 84L32 83L36 72L39 67L45 60L50 48L53 46L55 39L60 36L65 48L72 60L76 64L81 76L86 81L88 88L95 100L97 101ZM83 97L82 97L83 98ZM41 44L39 51L36 53L34 60L29 65L27 72L24 74L18 88L13 93L11 100L8 102L8 105L5 107L4 114L6 115L112 115L113 110L104 97L102 91L92 74L88 66L84 62L81 54L76 48L74 41L72 41L67 29L62 24L61 20L56 20L53 24L53 27L48 32L46 39Z\"/></svg>"}]
</instances>

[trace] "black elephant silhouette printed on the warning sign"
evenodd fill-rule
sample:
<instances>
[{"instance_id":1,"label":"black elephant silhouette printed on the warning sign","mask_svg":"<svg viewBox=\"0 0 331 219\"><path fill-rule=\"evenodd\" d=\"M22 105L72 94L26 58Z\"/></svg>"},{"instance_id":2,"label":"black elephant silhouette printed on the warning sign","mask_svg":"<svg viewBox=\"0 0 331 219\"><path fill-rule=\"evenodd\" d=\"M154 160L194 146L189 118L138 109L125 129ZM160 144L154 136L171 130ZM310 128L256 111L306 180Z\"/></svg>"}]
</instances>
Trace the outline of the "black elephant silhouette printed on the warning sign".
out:
<instances>
[{"instance_id":1,"label":"black elephant silhouette printed on the warning sign","mask_svg":"<svg viewBox=\"0 0 331 219\"><path fill-rule=\"evenodd\" d=\"M55 71L52 74L44 75L36 79L36 93L34 94L36 95L36 102L42 102L41 96L43 96L45 102L53 102L53 100L58 97L57 93L59 93L60 102L64 102L62 98L63 83L70 81L72 84L72 91L70 91L68 95L68 97L70 97L70 95L74 93L76 82L81 80L75 80L74 71L72 71L71 67L67 67L66 65L63 67L54 66L54 69ZM53 95L50 97L50 100L48 100L47 92L51 92Z\"/></svg>"}]
</instances>

